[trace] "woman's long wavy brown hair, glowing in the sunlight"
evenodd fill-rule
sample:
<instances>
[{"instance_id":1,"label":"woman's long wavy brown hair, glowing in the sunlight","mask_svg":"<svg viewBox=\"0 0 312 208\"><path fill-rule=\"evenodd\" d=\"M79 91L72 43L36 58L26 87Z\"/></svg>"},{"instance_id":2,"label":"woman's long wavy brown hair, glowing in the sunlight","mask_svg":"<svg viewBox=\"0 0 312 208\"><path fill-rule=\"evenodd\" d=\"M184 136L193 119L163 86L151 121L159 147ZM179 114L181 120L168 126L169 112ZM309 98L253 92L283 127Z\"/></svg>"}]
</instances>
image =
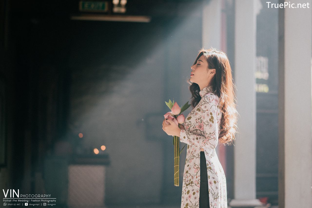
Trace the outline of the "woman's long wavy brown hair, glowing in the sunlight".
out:
<instances>
[{"instance_id":1,"label":"woman's long wavy brown hair, glowing in the sunlight","mask_svg":"<svg viewBox=\"0 0 312 208\"><path fill-rule=\"evenodd\" d=\"M216 74L212 79L213 91L219 97L219 108L222 112L221 129L219 134L219 142L231 145L235 140L235 133L237 129L237 115L236 110L236 96L234 87L236 86L232 80L232 70L230 61L227 55L220 50L210 48L208 50L201 49L194 62L196 64L200 56L204 55L208 62L208 69L216 69ZM193 64L193 65L194 65ZM200 88L196 83L191 83L190 79L187 81L191 86L189 87L192 93L192 107L199 103L202 99L199 92Z\"/></svg>"}]
</instances>

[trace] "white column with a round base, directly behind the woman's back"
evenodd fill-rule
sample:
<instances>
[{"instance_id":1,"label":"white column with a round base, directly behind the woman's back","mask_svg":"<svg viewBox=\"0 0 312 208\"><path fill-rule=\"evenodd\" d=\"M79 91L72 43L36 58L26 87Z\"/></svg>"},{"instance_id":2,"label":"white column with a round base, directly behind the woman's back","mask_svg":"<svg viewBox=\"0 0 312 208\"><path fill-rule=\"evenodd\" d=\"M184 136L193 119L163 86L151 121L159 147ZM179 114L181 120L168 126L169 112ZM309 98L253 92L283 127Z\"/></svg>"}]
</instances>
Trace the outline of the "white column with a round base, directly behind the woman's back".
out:
<instances>
[{"instance_id":1,"label":"white column with a round base, directly behind the woman's back","mask_svg":"<svg viewBox=\"0 0 312 208\"><path fill-rule=\"evenodd\" d=\"M238 130L231 207L259 206L256 199L256 15L258 0L235 1L235 68Z\"/></svg>"}]
</instances>

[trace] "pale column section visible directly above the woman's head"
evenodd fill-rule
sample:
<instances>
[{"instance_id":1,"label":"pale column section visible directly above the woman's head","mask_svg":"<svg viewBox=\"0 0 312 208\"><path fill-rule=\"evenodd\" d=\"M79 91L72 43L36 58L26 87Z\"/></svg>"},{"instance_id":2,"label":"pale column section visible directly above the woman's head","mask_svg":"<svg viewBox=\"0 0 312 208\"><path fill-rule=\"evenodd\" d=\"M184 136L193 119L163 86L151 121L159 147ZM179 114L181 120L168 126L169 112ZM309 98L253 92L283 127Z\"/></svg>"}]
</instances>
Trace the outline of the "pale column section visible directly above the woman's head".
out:
<instances>
[{"instance_id":1,"label":"pale column section visible directly above the woman's head","mask_svg":"<svg viewBox=\"0 0 312 208\"><path fill-rule=\"evenodd\" d=\"M221 2L211 0L202 9L202 46L221 49Z\"/></svg>"}]
</instances>

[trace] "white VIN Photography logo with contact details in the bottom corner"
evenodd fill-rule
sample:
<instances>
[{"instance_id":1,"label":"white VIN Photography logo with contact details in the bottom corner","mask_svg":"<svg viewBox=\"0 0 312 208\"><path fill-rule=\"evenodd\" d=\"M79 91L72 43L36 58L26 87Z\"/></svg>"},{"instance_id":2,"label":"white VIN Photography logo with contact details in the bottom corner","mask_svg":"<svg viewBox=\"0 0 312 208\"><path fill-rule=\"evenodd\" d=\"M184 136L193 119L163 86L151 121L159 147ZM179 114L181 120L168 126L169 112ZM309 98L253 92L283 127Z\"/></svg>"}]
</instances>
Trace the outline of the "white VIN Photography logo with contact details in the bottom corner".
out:
<instances>
[{"instance_id":1,"label":"white VIN Photography logo with contact details in the bottom corner","mask_svg":"<svg viewBox=\"0 0 312 208\"><path fill-rule=\"evenodd\" d=\"M19 189L2 191L4 206L56 206L56 198L51 198L51 194L20 194Z\"/></svg>"}]
</instances>

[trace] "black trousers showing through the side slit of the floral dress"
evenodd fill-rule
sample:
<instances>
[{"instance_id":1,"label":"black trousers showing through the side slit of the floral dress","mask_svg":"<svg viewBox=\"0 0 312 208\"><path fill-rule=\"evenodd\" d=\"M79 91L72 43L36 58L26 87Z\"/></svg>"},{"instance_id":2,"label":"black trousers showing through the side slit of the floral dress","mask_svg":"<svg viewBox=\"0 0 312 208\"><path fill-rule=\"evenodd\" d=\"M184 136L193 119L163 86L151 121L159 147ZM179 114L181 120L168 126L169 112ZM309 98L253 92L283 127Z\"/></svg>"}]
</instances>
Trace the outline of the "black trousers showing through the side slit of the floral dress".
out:
<instances>
[{"instance_id":1,"label":"black trousers showing through the side slit of the floral dress","mask_svg":"<svg viewBox=\"0 0 312 208\"><path fill-rule=\"evenodd\" d=\"M209 208L208 176L205 152L200 152L199 208Z\"/></svg>"}]
</instances>

